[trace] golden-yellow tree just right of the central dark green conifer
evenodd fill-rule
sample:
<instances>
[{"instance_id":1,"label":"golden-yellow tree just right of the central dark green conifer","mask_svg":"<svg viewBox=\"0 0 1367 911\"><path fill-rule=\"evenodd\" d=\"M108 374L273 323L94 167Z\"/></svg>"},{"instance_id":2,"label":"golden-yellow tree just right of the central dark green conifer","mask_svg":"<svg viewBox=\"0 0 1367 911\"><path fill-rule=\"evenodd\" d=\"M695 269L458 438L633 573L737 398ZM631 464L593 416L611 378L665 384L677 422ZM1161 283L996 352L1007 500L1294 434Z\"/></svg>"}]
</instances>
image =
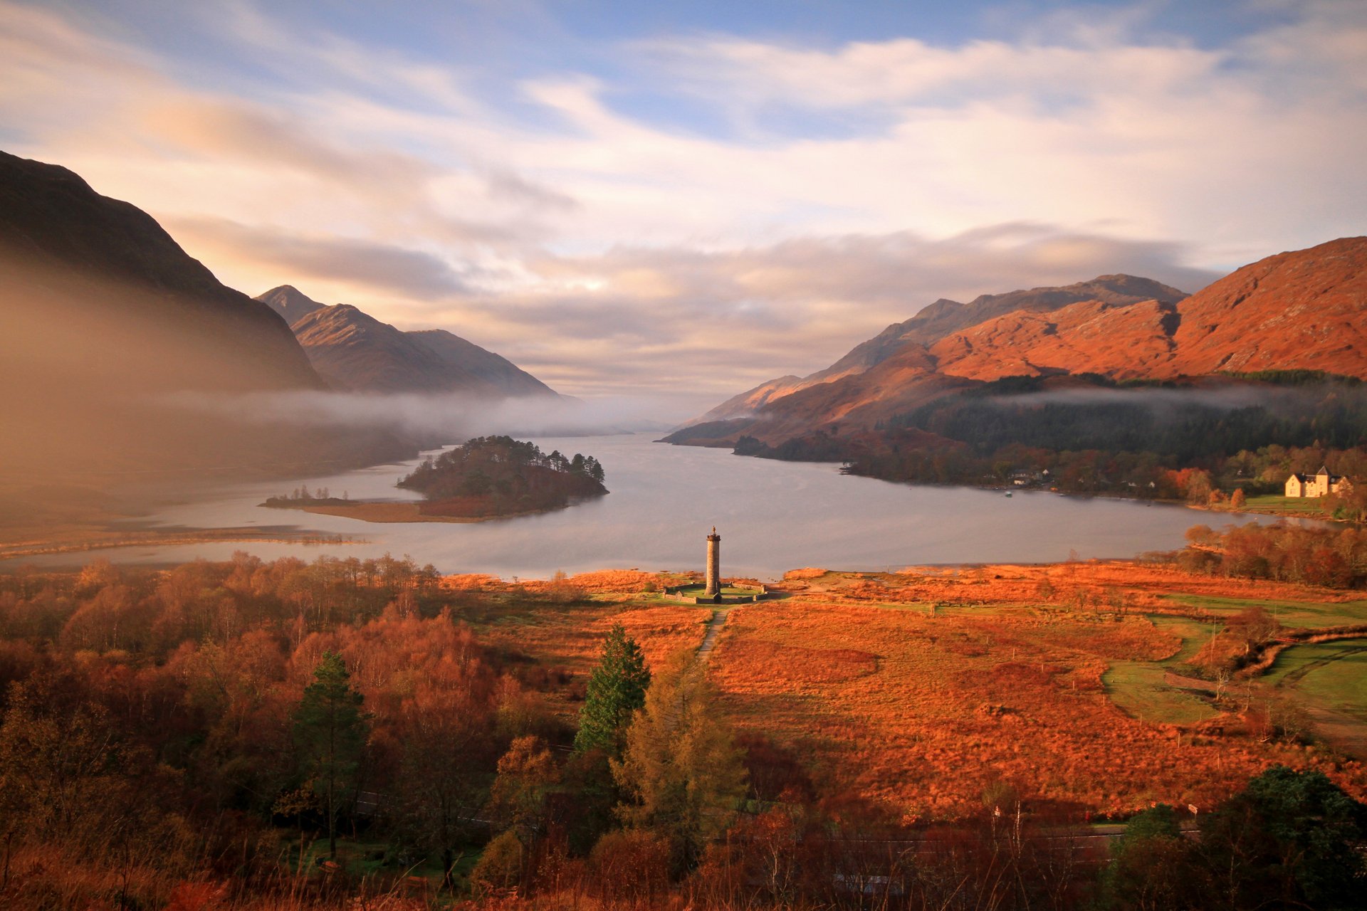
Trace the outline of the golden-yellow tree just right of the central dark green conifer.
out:
<instances>
[{"instance_id":1,"label":"golden-yellow tree just right of the central dark green conifer","mask_svg":"<svg viewBox=\"0 0 1367 911\"><path fill-rule=\"evenodd\" d=\"M618 815L667 836L685 867L730 825L745 798L741 751L712 707L705 668L678 656L645 695L612 776L627 800Z\"/></svg>"}]
</instances>

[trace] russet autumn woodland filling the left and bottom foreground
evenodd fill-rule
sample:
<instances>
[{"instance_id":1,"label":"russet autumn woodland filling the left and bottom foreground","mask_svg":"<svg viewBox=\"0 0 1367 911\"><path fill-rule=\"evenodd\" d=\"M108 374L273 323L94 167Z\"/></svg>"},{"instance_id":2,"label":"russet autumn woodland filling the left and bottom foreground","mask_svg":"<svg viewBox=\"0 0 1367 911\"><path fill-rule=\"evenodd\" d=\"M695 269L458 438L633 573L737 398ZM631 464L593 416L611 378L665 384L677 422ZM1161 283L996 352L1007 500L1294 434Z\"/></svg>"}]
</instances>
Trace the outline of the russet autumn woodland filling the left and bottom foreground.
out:
<instances>
[{"instance_id":1,"label":"russet autumn woodland filling the left and bottom foreground","mask_svg":"<svg viewBox=\"0 0 1367 911\"><path fill-rule=\"evenodd\" d=\"M1203 810L1199 840L1161 806L1107 850L1009 784L913 821L733 731L692 649L636 639L658 619L611 626L584 676L462 620L573 617L604 583L243 553L0 576L0 900L1362 907L1363 807L1318 770L1262 772Z\"/></svg>"}]
</instances>

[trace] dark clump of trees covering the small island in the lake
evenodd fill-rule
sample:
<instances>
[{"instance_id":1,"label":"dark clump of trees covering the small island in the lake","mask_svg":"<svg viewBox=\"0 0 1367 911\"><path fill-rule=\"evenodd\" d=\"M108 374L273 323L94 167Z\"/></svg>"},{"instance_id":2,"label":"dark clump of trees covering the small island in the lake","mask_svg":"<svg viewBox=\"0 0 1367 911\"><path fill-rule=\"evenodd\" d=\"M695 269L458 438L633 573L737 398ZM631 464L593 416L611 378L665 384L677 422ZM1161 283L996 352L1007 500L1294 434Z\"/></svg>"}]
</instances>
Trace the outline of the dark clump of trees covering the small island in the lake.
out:
<instances>
[{"instance_id":1,"label":"dark clump of trees covering the small island in the lake","mask_svg":"<svg viewBox=\"0 0 1367 911\"><path fill-rule=\"evenodd\" d=\"M398 486L427 497L424 515L484 518L562 509L606 494L603 481L593 456L547 455L534 443L495 436L428 456Z\"/></svg>"}]
</instances>

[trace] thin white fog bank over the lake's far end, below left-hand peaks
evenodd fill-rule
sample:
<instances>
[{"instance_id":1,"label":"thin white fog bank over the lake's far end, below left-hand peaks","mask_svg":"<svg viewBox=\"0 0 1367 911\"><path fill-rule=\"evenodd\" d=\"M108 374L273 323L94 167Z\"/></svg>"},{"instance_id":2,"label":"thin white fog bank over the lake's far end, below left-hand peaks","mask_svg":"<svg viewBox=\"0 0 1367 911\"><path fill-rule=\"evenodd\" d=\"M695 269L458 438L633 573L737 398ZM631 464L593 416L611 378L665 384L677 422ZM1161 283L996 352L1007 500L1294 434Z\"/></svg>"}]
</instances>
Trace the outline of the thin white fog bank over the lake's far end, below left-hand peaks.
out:
<instances>
[{"instance_id":1,"label":"thin white fog bank over the lake's far end, below left-hand peaks","mask_svg":"<svg viewBox=\"0 0 1367 911\"><path fill-rule=\"evenodd\" d=\"M470 437L604 436L659 432L685 414L675 402L651 396L485 399L462 393L357 392L176 392L157 399L182 412L242 423L340 430L383 430L424 443Z\"/></svg>"}]
</instances>

